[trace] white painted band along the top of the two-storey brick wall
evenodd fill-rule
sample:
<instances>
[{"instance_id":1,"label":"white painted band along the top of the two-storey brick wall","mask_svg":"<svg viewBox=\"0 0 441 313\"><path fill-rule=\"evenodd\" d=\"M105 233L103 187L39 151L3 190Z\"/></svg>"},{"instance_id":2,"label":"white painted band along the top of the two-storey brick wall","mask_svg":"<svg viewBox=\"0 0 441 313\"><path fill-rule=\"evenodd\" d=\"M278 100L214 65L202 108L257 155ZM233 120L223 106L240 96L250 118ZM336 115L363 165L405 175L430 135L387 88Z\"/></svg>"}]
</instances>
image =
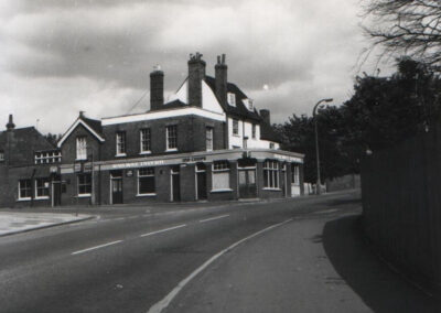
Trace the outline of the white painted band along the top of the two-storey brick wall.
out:
<instances>
[{"instance_id":1,"label":"white painted band along the top of the two-storey brick wall","mask_svg":"<svg viewBox=\"0 0 441 313\"><path fill-rule=\"evenodd\" d=\"M207 110L196 108L196 107L189 107L189 108L150 111L150 112L140 114L140 115L104 118L104 119L101 119L101 125L108 126L108 125L117 125L117 123L126 123L126 122L174 118L174 117L182 117L182 116L198 116L198 117L208 118L208 119L213 119L213 120L226 121L225 114L217 114L217 112L207 111Z\"/></svg>"}]
</instances>

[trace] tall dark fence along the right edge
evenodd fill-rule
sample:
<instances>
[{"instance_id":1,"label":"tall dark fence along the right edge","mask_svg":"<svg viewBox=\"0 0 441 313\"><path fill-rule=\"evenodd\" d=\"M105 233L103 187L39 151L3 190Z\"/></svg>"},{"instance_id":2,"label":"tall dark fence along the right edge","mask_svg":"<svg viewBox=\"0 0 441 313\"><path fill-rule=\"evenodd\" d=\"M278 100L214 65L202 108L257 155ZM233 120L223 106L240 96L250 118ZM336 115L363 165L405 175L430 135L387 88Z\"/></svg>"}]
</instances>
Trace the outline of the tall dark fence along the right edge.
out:
<instances>
[{"instance_id":1,"label":"tall dark fence along the right edge","mask_svg":"<svg viewBox=\"0 0 441 313\"><path fill-rule=\"evenodd\" d=\"M362 162L363 223L383 256L441 285L441 129Z\"/></svg>"}]
</instances>

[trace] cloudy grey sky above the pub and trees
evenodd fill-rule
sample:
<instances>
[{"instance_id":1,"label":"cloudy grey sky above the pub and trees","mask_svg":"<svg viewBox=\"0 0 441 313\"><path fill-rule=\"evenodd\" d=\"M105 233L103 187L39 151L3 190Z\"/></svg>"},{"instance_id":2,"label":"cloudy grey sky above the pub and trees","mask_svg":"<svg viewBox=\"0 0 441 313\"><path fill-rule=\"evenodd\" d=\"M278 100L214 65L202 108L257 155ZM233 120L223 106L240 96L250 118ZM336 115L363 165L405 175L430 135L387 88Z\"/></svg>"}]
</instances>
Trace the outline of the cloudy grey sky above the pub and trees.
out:
<instances>
[{"instance_id":1,"label":"cloudy grey sky above the pub and trees","mask_svg":"<svg viewBox=\"0 0 441 313\"><path fill-rule=\"evenodd\" d=\"M359 13L359 0L1 1L0 129L9 114L18 127L60 133L79 110L146 111L149 95L131 108L153 66L165 72L166 96L196 51L208 75L225 53L228 79L272 121L310 115L323 97L351 97L367 46Z\"/></svg>"}]
</instances>

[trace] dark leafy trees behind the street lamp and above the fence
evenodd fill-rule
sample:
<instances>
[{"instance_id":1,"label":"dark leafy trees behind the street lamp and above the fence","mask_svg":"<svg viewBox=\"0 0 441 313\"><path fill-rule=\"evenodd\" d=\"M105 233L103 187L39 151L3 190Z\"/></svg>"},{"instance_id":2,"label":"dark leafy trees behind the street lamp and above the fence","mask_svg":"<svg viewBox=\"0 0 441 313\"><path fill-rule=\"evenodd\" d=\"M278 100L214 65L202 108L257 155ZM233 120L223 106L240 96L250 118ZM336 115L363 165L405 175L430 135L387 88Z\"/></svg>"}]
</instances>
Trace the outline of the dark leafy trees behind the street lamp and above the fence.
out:
<instances>
[{"instance_id":1,"label":"dark leafy trees behind the street lamp and above the fence","mask_svg":"<svg viewBox=\"0 0 441 313\"><path fill-rule=\"evenodd\" d=\"M390 77L357 77L354 95L340 107L319 109L322 181L359 172L367 151L396 144L439 122L441 79L430 67L399 60ZM305 154L305 182L316 181L314 121L295 116L276 127L282 148Z\"/></svg>"}]
</instances>

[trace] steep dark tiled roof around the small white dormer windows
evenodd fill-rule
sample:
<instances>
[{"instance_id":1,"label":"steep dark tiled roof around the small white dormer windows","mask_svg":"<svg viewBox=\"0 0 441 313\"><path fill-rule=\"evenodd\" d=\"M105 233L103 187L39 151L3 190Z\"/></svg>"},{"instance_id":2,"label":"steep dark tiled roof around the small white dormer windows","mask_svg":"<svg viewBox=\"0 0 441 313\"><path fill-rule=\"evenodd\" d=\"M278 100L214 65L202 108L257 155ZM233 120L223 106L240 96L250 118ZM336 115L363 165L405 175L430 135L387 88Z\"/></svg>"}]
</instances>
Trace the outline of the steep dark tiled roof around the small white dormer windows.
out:
<instances>
[{"instance_id":1,"label":"steep dark tiled roof around the small white dormer windows","mask_svg":"<svg viewBox=\"0 0 441 313\"><path fill-rule=\"evenodd\" d=\"M209 86L212 91L216 95L216 82L215 78L212 76L205 76L205 83ZM228 83L227 84L227 93L232 93L236 95L236 106L229 106L228 104L220 104L223 109L225 110L226 114L239 117L239 118L245 118L245 119L250 119L255 121L261 121L260 116L257 114L256 110L250 111L247 107L245 107L244 101L245 99L248 99L247 95L244 94L243 90L239 89L235 84Z\"/></svg>"}]
</instances>

